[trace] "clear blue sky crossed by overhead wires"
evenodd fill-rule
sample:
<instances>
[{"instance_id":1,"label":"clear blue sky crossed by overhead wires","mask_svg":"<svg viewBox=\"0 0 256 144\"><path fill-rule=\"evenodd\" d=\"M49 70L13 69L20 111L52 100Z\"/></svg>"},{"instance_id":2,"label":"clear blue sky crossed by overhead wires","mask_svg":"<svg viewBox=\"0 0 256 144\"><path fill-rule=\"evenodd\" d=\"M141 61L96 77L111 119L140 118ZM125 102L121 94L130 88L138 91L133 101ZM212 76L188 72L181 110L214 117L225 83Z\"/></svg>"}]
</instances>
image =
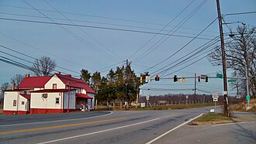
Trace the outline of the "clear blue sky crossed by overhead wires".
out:
<instances>
[{"instance_id":1,"label":"clear blue sky crossed by overhead wires","mask_svg":"<svg viewBox=\"0 0 256 144\"><path fill-rule=\"evenodd\" d=\"M202 6L200 6L189 19L182 21L188 18L189 13L201 4ZM188 5L189 7L185 9ZM254 0L220 1L221 12L225 15L224 19L226 22L240 21L246 22L247 25L250 26L255 26L255 13L247 15L226 14L254 12L256 11L255 5L256 2ZM182 9L185 9L184 12L182 12ZM56 10L58 12L56 12ZM178 15L180 12L182 13ZM175 19L176 16L177 18ZM214 77L216 73L222 71L222 67L213 67L207 58L203 58L189 67L186 66L194 60L190 60L178 67L171 67L171 69L164 74L160 73L161 70L168 68L167 66L174 63L175 60L184 57L187 53L198 49L199 46L202 46L209 42L210 39L219 35L218 22L217 20L213 22L217 17L215 0L2 0L0 1L0 17L79 25L80 27L61 27L44 23L17 22L0 19L1 45L24 53L30 56L30 58L3 47L0 48L2 52L31 62L33 62L31 57L50 57L56 61L58 66L57 70L65 74L79 76L81 69L87 69L91 73L98 70L103 76L106 76L110 68L116 69L116 67L122 66L125 64L125 60L131 62L131 66L137 75L147 70L153 77L155 74L167 78L173 77L175 74L179 77L193 77L194 74L206 74L210 77ZM181 25L181 22L184 22L184 24ZM213 24L209 26L211 22L213 22ZM241 24L234 23L229 26L232 29L236 29L239 25ZM85 26L96 26L98 28ZM198 35L206 26L209 27L198 36L199 39L192 40L192 38ZM224 33L229 33L227 26L223 26L223 29ZM130 32L130 30L133 32ZM171 30L175 31L171 32L171 34L175 36L164 37L160 34L156 35L156 33L170 33ZM163 41L161 39L166 40ZM189 43L190 40L192 40L191 43ZM220 43L216 43L207 50L219 44ZM184 48L180 50L182 47ZM174 54L178 50L180 51ZM0 56L16 60L19 63L29 66L32 65L27 61L16 59L5 53L0 53ZM205 57L206 54L207 53L199 53L199 55L195 57L195 60ZM166 60L168 57L170 58ZM29 70L2 61L0 61L0 67L0 84L9 82L16 74L31 73ZM68 70L63 70L60 67ZM150 67L153 68L149 69ZM182 67L185 68L179 70ZM229 75L230 72L231 71L228 70ZM185 83L174 83L172 79L157 82L151 81L149 84L143 86L144 89L151 88L152 90L152 88L161 88L164 89L164 91L142 91L142 93L192 94L193 84L193 79L186 79ZM198 88L208 91L209 94L211 91L222 93L223 80L209 79L209 83L198 83ZM177 91L174 89L189 90ZM199 94L206 93L202 91L198 92ZM231 93L234 93L234 91L230 91L230 94Z\"/></svg>"}]
</instances>

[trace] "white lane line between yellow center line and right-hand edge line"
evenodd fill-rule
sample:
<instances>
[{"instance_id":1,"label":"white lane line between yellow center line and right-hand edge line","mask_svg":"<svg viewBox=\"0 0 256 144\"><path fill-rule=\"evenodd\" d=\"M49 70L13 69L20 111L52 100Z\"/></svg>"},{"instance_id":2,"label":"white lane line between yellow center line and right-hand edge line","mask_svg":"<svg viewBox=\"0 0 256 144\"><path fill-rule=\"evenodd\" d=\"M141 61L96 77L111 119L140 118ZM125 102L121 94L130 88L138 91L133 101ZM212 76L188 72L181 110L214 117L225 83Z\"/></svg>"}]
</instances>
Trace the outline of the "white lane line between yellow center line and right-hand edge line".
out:
<instances>
[{"instance_id":1,"label":"white lane line between yellow center line and right-hand edge line","mask_svg":"<svg viewBox=\"0 0 256 144\"><path fill-rule=\"evenodd\" d=\"M135 124L124 125L124 126L120 126L120 127L116 127L116 128L112 128L112 129L105 129L105 130L98 131L98 132L91 132L91 133L86 133L86 134L83 134L83 135L75 135L75 136L71 136L71 137L67 137L67 138L63 138L63 139L55 139L55 140L51 140L51 141L47 141L47 142L40 142L38 144L51 143L51 142L60 142L60 141L63 141L63 140L74 139L74 138L78 138L78 137L81 137L81 136L94 135L94 134L101 133L101 132L108 132L108 131L112 131L112 130L116 130L116 129L123 129L123 128L134 126L134 125L140 125L140 124L144 124L144 123L147 123L147 122L156 121L158 119L160 119L160 118L154 118L154 119L151 119L151 120L148 120L148 121L145 121L145 122L138 122L138 123L135 123Z\"/></svg>"}]
</instances>

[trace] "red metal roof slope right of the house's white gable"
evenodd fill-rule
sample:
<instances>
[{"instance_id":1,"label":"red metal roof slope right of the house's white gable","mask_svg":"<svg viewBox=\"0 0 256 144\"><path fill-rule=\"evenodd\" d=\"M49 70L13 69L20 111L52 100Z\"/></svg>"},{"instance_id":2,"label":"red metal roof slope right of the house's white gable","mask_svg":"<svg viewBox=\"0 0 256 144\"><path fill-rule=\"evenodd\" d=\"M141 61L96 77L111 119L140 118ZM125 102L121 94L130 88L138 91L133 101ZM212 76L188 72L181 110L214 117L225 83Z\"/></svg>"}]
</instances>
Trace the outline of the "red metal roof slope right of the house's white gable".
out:
<instances>
[{"instance_id":1,"label":"red metal roof slope right of the house's white gable","mask_svg":"<svg viewBox=\"0 0 256 144\"><path fill-rule=\"evenodd\" d=\"M57 77L65 84L70 85L71 87L78 87L85 89L86 92L95 94L95 91L92 89L92 87L88 86L88 84L85 83L85 81L71 77L70 74L62 75L62 74L56 74Z\"/></svg>"}]
</instances>

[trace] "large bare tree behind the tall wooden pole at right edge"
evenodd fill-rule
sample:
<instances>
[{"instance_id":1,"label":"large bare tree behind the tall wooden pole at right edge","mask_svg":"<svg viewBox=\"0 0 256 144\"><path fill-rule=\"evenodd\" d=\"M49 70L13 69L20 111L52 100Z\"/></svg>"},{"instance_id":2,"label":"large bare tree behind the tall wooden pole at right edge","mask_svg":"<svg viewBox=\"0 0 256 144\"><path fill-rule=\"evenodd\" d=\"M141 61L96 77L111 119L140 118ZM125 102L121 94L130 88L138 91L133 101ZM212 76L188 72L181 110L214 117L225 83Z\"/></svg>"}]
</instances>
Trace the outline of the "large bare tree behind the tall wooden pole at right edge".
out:
<instances>
[{"instance_id":1,"label":"large bare tree behind the tall wooden pole at right edge","mask_svg":"<svg viewBox=\"0 0 256 144\"><path fill-rule=\"evenodd\" d=\"M252 95L255 96L256 90L256 27L238 26L237 33L231 33L231 40L226 42L226 60L227 69L232 69L233 77L246 77L246 68L249 78L249 88ZM221 49L216 47L213 53L209 55L209 61L214 66L222 65ZM237 85L238 84L238 85ZM246 81L239 80L239 83L233 84L234 87L240 87L244 93L246 91ZM245 94L245 93L244 93Z\"/></svg>"}]
</instances>

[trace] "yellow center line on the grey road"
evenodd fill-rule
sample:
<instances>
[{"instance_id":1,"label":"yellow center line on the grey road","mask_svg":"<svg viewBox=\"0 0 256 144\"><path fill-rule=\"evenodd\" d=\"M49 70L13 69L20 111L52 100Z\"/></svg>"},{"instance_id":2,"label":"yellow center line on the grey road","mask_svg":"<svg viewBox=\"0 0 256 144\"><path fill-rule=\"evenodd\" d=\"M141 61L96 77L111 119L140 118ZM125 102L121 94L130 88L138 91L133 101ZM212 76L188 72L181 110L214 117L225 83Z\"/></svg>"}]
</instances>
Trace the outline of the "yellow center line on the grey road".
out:
<instances>
[{"instance_id":1,"label":"yellow center line on the grey road","mask_svg":"<svg viewBox=\"0 0 256 144\"><path fill-rule=\"evenodd\" d=\"M99 121L92 121L92 122L80 122L80 123L72 123L67 125L55 125L55 126L47 126L47 127L41 127L41 128L33 128L33 129L19 129L19 130L13 130L13 131L6 131L6 132L0 132L0 134L10 134L10 133L17 133L17 132L32 132L32 131L40 131L45 129L57 129L57 128L66 128L70 126L79 126L79 125L89 125L89 124L95 124L100 122L111 122L111 121L117 121L124 118L112 118L112 119L103 119Z\"/></svg>"}]
</instances>

